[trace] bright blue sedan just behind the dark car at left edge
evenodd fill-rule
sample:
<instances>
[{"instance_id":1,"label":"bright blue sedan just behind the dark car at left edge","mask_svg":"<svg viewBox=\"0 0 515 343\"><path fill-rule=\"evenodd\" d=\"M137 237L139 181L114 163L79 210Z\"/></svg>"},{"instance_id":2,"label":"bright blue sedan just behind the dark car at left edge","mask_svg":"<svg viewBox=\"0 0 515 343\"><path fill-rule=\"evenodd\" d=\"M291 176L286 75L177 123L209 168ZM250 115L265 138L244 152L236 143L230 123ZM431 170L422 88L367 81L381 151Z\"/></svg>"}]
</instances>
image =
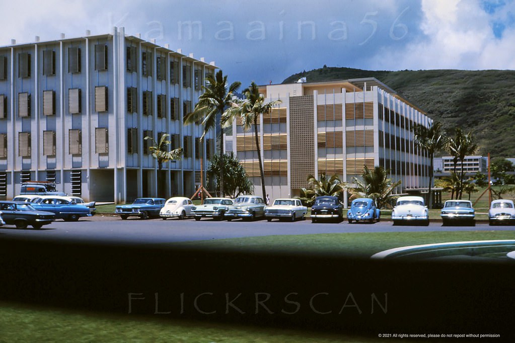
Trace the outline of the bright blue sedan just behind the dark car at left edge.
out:
<instances>
[{"instance_id":1,"label":"bright blue sedan just behind the dark car at left edge","mask_svg":"<svg viewBox=\"0 0 515 343\"><path fill-rule=\"evenodd\" d=\"M55 213L56 219L65 221L78 221L84 216L91 216L90 209L77 205L72 198L59 195L41 195L32 199L30 203L33 208L40 211L48 211Z\"/></svg>"}]
</instances>

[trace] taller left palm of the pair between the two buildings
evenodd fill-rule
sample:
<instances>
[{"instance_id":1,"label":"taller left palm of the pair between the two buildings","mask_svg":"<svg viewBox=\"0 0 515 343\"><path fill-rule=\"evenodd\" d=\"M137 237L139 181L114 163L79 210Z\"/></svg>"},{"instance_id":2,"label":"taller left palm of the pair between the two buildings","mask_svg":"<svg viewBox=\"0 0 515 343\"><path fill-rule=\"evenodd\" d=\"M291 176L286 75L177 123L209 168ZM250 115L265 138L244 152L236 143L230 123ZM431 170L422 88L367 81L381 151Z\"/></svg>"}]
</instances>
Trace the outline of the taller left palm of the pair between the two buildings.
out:
<instances>
[{"instance_id":1,"label":"taller left palm of the pair between the two buildings","mask_svg":"<svg viewBox=\"0 0 515 343\"><path fill-rule=\"evenodd\" d=\"M215 77L209 75L205 78L207 86L203 86L204 93L198 97L198 102L192 113L184 116L184 125L200 122L204 130L201 140L214 127L216 127L216 117L222 115L227 107L231 106L233 93L237 91L241 82L235 81L227 87L227 75L224 76L221 70L218 70ZM224 116L222 119L222 127L224 126ZM220 139L220 154L224 154L224 136ZM223 161L223 159L222 159ZM224 175L224 164L220 164L220 175ZM224 178L219 177L220 193L224 196Z\"/></svg>"}]
</instances>

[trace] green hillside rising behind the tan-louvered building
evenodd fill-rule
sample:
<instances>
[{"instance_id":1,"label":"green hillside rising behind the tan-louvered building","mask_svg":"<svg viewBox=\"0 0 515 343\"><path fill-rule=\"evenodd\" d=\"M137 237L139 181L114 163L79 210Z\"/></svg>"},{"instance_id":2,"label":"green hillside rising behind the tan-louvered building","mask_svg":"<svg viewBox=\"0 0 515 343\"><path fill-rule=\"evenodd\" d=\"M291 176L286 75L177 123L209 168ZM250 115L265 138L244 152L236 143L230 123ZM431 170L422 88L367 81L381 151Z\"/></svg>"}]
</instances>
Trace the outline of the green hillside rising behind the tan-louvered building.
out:
<instances>
[{"instance_id":1,"label":"green hillside rising behind the tan-louvered building","mask_svg":"<svg viewBox=\"0 0 515 343\"><path fill-rule=\"evenodd\" d=\"M324 67L285 79L307 82L375 77L428 116L442 121L452 134L472 131L478 154L515 157L515 70L361 70Z\"/></svg>"}]
</instances>

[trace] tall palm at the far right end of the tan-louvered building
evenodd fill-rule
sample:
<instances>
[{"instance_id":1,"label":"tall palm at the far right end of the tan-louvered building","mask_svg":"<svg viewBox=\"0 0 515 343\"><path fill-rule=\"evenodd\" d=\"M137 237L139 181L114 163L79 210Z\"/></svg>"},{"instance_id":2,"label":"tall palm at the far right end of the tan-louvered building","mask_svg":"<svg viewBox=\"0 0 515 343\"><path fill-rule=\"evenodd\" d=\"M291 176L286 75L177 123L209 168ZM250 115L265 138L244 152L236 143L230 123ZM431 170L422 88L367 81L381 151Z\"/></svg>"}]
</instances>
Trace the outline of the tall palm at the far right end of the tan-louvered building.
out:
<instances>
[{"instance_id":1,"label":"tall palm at the far right end of the tan-louvered building","mask_svg":"<svg viewBox=\"0 0 515 343\"><path fill-rule=\"evenodd\" d=\"M445 147L446 135L442 131L442 123L434 122L429 128L417 124L414 127L414 140L418 146L427 151L431 166L429 168L429 183L427 186L427 206L433 208L431 186L433 185L434 175L434 161L435 152L442 150Z\"/></svg>"}]
</instances>

